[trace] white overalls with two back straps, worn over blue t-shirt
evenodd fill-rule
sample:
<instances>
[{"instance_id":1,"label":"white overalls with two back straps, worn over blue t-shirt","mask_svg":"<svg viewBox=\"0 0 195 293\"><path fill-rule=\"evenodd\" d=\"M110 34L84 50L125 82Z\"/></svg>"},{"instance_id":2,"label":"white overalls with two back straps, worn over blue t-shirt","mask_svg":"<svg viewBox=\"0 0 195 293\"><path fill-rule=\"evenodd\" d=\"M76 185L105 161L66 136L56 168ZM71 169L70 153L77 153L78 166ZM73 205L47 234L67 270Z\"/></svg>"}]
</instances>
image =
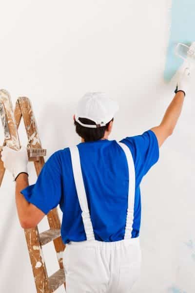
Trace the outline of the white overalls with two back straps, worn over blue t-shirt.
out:
<instances>
[{"instance_id":1,"label":"white overalls with two back straps, worn over blue t-shirt","mask_svg":"<svg viewBox=\"0 0 195 293\"><path fill-rule=\"evenodd\" d=\"M66 245L63 255L66 293L129 293L140 277L142 253L139 236L131 238L134 218L135 167L129 147L124 143L118 142L118 144L126 154L131 180L129 181L124 239L114 242L98 241L94 237L78 147L70 147L73 174L87 240L70 241Z\"/></svg>"}]
</instances>

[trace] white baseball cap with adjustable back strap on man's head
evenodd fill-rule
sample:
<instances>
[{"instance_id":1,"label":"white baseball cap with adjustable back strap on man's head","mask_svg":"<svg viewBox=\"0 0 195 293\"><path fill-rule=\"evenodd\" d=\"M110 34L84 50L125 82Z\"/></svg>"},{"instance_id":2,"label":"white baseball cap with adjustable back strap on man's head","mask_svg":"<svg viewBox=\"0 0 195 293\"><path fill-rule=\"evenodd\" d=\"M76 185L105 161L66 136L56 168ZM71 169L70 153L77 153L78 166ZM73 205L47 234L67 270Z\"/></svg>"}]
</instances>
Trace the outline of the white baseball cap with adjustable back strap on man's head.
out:
<instances>
[{"instance_id":1,"label":"white baseball cap with adjustable back strap on man's head","mask_svg":"<svg viewBox=\"0 0 195 293\"><path fill-rule=\"evenodd\" d=\"M82 126L97 128L105 126L112 120L119 106L116 101L108 98L103 92L86 93L78 102L75 120ZM81 123L78 118L87 118L96 123L88 125Z\"/></svg>"}]
</instances>

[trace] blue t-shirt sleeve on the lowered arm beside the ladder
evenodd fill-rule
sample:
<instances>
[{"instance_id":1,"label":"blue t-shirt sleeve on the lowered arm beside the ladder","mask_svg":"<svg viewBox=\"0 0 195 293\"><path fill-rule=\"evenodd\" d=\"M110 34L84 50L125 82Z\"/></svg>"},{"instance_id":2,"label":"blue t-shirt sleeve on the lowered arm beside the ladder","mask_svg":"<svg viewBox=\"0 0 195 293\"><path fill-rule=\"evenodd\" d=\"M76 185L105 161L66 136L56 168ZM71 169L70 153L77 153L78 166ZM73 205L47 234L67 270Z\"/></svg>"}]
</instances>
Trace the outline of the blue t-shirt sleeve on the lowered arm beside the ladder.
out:
<instances>
[{"instance_id":1,"label":"blue t-shirt sleeve on the lowered arm beside the ladder","mask_svg":"<svg viewBox=\"0 0 195 293\"><path fill-rule=\"evenodd\" d=\"M35 184L22 189L25 199L47 214L58 206L62 193L59 151L43 165Z\"/></svg>"}]
</instances>

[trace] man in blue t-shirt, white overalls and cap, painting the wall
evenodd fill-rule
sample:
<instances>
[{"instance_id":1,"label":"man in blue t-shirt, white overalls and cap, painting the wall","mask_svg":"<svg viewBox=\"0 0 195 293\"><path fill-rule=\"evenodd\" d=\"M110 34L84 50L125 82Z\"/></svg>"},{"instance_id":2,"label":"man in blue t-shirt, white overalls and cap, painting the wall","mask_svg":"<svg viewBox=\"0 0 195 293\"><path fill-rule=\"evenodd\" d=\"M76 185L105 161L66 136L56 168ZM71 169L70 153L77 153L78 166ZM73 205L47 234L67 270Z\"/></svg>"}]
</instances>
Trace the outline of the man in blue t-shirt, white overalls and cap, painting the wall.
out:
<instances>
[{"instance_id":1,"label":"man in blue t-shirt, white overalls and cap, painting the wall","mask_svg":"<svg viewBox=\"0 0 195 293\"><path fill-rule=\"evenodd\" d=\"M26 148L3 147L2 160L16 182L22 228L32 228L51 209L63 212L67 293L129 293L140 275L140 182L173 133L189 83L180 73L176 95L160 125L120 142L108 140L117 103L88 93L78 103L77 146L54 152L29 186Z\"/></svg>"}]
</instances>

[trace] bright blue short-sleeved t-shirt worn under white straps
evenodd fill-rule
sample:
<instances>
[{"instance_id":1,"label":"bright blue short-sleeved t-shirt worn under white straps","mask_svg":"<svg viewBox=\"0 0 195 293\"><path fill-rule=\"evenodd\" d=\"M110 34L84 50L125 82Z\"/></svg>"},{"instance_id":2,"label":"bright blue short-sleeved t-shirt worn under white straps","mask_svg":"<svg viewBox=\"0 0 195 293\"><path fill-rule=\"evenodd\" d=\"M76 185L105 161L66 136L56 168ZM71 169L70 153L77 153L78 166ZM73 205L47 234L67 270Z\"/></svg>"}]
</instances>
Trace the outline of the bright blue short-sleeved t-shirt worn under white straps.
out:
<instances>
[{"instance_id":1,"label":"bright blue short-sleeved t-shirt worn under white straps","mask_svg":"<svg viewBox=\"0 0 195 293\"><path fill-rule=\"evenodd\" d=\"M120 142L131 150L136 170L136 194L132 237L139 235L141 221L140 182L159 158L155 133L126 137ZM78 145L82 176L95 239L124 239L128 207L129 172L125 153L116 140L98 140ZM130 177L131 180L131 177ZM63 213L61 237L86 240L73 177L69 147L54 152L43 165L35 184L20 191L26 200L47 214L58 206Z\"/></svg>"}]
</instances>

